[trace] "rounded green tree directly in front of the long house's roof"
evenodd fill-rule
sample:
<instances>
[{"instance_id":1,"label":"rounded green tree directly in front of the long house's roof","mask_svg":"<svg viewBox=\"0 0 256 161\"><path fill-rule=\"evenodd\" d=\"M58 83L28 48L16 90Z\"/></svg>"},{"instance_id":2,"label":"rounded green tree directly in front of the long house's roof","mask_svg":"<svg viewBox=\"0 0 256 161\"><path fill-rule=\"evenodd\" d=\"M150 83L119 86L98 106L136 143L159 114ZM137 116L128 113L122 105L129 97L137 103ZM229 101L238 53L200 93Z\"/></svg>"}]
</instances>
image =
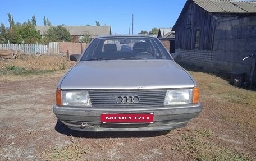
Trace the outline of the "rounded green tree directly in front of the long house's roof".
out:
<instances>
[{"instance_id":1,"label":"rounded green tree directly in front of the long house's roof","mask_svg":"<svg viewBox=\"0 0 256 161\"><path fill-rule=\"evenodd\" d=\"M71 35L63 26L52 26L46 31L44 39L48 42L71 42Z\"/></svg>"}]
</instances>

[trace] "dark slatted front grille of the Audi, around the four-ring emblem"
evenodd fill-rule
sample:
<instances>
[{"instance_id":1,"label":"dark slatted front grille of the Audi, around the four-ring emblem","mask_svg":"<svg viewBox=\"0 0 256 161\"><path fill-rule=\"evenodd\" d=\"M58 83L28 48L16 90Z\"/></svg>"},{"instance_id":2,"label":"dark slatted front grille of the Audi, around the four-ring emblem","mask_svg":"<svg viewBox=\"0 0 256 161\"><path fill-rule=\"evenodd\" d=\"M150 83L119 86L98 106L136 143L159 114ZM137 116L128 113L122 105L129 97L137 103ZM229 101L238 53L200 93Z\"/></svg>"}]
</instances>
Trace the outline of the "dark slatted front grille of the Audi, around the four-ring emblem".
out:
<instances>
[{"instance_id":1,"label":"dark slatted front grille of the Audi, around the four-ring emblem","mask_svg":"<svg viewBox=\"0 0 256 161\"><path fill-rule=\"evenodd\" d=\"M166 90L90 90L92 107L159 107L163 106ZM117 103L118 96L138 96L138 103Z\"/></svg>"}]
</instances>

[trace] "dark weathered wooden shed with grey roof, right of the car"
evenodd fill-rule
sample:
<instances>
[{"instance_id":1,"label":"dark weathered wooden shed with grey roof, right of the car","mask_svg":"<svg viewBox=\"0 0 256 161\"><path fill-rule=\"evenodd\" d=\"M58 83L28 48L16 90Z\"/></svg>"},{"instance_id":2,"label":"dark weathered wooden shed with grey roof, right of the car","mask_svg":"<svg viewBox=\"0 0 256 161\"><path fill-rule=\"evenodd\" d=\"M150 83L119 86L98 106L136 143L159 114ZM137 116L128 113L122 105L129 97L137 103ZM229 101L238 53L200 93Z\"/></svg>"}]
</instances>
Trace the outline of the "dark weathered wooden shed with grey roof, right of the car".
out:
<instances>
[{"instance_id":1,"label":"dark weathered wooden shed with grey roof, right of the car","mask_svg":"<svg viewBox=\"0 0 256 161\"><path fill-rule=\"evenodd\" d=\"M182 62L256 85L256 2L187 0L172 28Z\"/></svg>"}]
</instances>

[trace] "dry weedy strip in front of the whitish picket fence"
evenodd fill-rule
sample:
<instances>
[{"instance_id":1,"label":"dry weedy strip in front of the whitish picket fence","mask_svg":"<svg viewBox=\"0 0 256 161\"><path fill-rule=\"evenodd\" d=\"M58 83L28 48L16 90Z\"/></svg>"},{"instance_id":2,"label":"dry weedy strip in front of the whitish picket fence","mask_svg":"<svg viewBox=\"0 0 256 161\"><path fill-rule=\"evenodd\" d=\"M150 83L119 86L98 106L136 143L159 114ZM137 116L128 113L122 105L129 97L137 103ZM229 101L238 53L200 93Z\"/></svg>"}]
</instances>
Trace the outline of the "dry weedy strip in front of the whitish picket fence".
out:
<instances>
[{"instance_id":1,"label":"dry weedy strip in front of the whitish picket fence","mask_svg":"<svg viewBox=\"0 0 256 161\"><path fill-rule=\"evenodd\" d=\"M4 59L0 61L0 73L28 75L65 70L75 63L63 56L24 56L21 59Z\"/></svg>"}]
</instances>

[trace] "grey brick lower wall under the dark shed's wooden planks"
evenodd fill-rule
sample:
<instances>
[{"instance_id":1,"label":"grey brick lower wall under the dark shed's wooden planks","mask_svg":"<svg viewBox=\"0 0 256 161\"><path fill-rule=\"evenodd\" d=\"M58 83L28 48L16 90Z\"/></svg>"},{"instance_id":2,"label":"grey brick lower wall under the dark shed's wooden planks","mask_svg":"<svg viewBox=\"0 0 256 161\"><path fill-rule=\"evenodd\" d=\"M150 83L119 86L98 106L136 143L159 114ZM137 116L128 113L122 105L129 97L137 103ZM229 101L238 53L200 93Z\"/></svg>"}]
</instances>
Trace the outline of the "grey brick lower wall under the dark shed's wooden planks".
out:
<instances>
[{"instance_id":1,"label":"grey brick lower wall under the dark shed's wooden planks","mask_svg":"<svg viewBox=\"0 0 256 161\"><path fill-rule=\"evenodd\" d=\"M212 70L213 68L214 56L210 51L176 49L175 53L182 55L181 62L203 67L205 70Z\"/></svg>"}]
</instances>

